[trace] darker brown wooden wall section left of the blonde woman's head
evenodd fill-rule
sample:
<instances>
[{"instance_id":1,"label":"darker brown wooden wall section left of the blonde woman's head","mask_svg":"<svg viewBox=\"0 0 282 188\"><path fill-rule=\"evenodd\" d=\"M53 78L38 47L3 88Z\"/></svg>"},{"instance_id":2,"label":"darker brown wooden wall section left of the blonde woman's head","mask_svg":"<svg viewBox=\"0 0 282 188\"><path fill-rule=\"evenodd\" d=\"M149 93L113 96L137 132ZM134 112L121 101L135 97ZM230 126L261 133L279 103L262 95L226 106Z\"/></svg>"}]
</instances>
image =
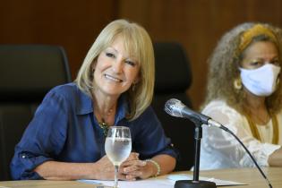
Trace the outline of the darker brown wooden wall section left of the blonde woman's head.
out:
<instances>
[{"instance_id":1,"label":"darker brown wooden wall section left of the blonde woman's head","mask_svg":"<svg viewBox=\"0 0 282 188\"><path fill-rule=\"evenodd\" d=\"M115 0L1 0L1 44L63 46L73 79L90 45L115 19Z\"/></svg>"}]
</instances>

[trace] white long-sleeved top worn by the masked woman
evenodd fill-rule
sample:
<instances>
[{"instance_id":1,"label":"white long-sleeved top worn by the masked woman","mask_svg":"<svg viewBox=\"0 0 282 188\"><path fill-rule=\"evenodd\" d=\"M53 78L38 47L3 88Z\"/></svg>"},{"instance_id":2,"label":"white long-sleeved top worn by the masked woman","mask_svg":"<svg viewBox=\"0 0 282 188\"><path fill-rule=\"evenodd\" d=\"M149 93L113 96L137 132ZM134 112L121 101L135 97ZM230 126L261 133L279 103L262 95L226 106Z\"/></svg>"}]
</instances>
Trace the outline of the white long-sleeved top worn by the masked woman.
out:
<instances>
[{"instance_id":1,"label":"white long-sleeved top worn by the masked woman","mask_svg":"<svg viewBox=\"0 0 282 188\"><path fill-rule=\"evenodd\" d=\"M269 121L265 126L257 125L262 140L258 141L252 136L246 117L239 114L234 108L227 106L225 101L211 101L202 110L202 114L208 115L234 132L244 142L260 166L268 167L269 155L282 145L282 113L277 115L279 145L271 144L272 121ZM254 166L252 159L230 133L217 127L202 126L201 170Z\"/></svg>"}]
</instances>

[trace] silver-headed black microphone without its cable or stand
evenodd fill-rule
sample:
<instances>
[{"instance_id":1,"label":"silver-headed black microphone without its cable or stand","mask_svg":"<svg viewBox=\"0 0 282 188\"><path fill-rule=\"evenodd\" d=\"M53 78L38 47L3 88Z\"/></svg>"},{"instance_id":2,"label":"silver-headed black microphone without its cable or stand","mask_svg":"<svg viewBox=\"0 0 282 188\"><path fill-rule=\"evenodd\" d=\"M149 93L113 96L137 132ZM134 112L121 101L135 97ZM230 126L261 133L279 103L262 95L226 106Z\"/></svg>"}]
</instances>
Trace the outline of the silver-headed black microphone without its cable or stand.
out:
<instances>
[{"instance_id":1,"label":"silver-headed black microphone without its cable or stand","mask_svg":"<svg viewBox=\"0 0 282 188\"><path fill-rule=\"evenodd\" d=\"M176 117L184 117L190 119L194 124L208 124L209 126L216 126L218 128L223 128L221 124L214 121L207 115L202 115L198 112L192 111L192 109L186 107L180 100L176 98L171 98L167 100L165 104L165 111L168 115Z\"/></svg>"}]
</instances>

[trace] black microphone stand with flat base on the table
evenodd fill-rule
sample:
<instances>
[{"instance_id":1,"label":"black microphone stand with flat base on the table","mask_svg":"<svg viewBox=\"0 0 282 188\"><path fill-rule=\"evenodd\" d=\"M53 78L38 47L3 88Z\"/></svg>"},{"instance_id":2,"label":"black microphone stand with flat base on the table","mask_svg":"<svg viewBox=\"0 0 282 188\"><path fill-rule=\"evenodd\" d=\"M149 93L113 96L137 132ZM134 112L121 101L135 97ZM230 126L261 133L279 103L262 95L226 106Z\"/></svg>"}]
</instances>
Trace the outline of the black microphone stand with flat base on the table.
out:
<instances>
[{"instance_id":1,"label":"black microphone stand with flat base on the table","mask_svg":"<svg viewBox=\"0 0 282 188\"><path fill-rule=\"evenodd\" d=\"M175 188L216 188L217 185L214 182L199 180L202 128L201 128L201 121L199 121L198 119L193 118L192 122L195 124L195 132L194 132L195 156L194 156L193 179L178 180L175 182Z\"/></svg>"}]
</instances>

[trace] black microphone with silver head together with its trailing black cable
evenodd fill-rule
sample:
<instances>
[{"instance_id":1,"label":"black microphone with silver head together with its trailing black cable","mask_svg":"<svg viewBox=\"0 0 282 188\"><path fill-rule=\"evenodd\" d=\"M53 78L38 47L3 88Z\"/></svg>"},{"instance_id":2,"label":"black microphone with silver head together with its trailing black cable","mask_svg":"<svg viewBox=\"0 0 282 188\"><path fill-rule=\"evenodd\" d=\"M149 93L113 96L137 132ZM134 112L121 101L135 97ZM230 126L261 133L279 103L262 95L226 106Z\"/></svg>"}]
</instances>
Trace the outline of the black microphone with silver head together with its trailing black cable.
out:
<instances>
[{"instance_id":1,"label":"black microphone with silver head together with its trailing black cable","mask_svg":"<svg viewBox=\"0 0 282 188\"><path fill-rule=\"evenodd\" d=\"M235 135L234 132L230 131L226 126L219 124L217 121L212 120L209 116L207 115L202 115L201 113L195 112L189 107L186 107L180 100L171 98L167 100L165 104L165 111L167 112L168 115L176 116L176 117L184 117L190 119L194 124L206 124L208 126L216 126L226 132L229 132L232 136L235 137L235 140L238 141L244 150L248 153L250 158L252 159L252 162L254 165L258 168L260 171L261 175L269 185L269 188L272 188L272 184L269 181L269 178L264 174L264 172L261 170L261 167L258 165L257 161L252 157L251 152L245 147L244 143ZM199 153L200 155L200 153ZM198 156L199 157L199 156ZM199 164L197 165L199 168ZM197 168L197 167L195 167ZM199 170L199 169L197 169Z\"/></svg>"}]
</instances>

